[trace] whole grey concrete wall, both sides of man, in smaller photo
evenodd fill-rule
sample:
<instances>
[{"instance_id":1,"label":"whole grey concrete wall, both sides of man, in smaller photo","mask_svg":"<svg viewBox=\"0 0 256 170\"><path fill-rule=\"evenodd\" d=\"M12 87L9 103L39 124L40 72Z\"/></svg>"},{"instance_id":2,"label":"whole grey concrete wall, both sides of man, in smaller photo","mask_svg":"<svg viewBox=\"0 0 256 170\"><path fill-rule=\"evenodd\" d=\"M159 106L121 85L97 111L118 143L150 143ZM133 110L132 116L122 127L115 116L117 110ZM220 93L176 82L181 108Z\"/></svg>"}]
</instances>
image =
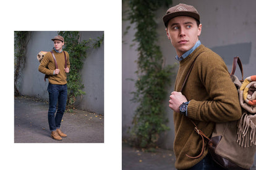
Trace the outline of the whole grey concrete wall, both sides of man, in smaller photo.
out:
<instances>
[{"instance_id":1,"label":"whole grey concrete wall, both sides of man, in smaller photo","mask_svg":"<svg viewBox=\"0 0 256 170\"><path fill-rule=\"evenodd\" d=\"M80 31L83 39L97 39L103 31ZM48 99L48 79L38 71L39 62L36 55L40 51L51 51L53 41L51 38L57 31L32 31L27 45L25 67L19 80L18 89L23 95L31 95L40 99ZM65 50L65 49L64 49ZM92 111L104 115L104 43L100 48L88 51L87 58L83 60L81 71L82 83L87 94L77 97L76 105L82 110ZM72 70L70 70L72 71Z\"/></svg>"}]
</instances>

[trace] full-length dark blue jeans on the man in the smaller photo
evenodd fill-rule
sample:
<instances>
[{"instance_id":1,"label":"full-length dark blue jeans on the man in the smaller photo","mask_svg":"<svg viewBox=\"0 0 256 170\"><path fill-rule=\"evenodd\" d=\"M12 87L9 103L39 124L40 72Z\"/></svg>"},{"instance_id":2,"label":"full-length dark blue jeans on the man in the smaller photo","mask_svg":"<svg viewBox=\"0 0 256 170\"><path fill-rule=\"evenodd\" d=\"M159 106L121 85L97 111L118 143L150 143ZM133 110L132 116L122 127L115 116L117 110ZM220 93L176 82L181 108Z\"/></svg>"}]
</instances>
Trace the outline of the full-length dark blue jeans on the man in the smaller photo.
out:
<instances>
[{"instance_id":1,"label":"full-length dark blue jeans on the man in the smaller photo","mask_svg":"<svg viewBox=\"0 0 256 170\"><path fill-rule=\"evenodd\" d=\"M49 92L49 110L48 123L50 131L55 131L61 127L61 119L64 115L67 102L67 84L48 84ZM58 103L58 111L55 116L56 107Z\"/></svg>"}]
</instances>

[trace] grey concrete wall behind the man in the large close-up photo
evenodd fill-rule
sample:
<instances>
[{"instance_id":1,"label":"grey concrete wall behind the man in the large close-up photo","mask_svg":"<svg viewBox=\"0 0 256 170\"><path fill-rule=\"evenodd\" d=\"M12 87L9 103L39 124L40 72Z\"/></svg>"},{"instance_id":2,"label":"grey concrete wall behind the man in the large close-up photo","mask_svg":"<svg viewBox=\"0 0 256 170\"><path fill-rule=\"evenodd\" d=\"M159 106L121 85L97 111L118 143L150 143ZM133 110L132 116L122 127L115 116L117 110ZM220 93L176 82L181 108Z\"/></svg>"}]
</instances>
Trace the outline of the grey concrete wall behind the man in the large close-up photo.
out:
<instances>
[{"instance_id":1,"label":"grey concrete wall behind the man in the large close-up photo","mask_svg":"<svg viewBox=\"0 0 256 170\"><path fill-rule=\"evenodd\" d=\"M232 69L233 57L239 55L244 67L245 78L256 73L256 12L254 7L256 1L226 0L173 0L173 6L185 3L194 6L201 17L202 33L200 41L218 53L226 62L229 71ZM123 4L123 10L127 7ZM166 65L177 63L174 59L176 51L166 36L162 17L168 8L161 8L156 12L156 22L158 23L157 32L159 34L158 44L161 47ZM122 22L122 32L129 22ZM133 25L131 25L134 27ZM122 37L122 136L129 137L127 130L132 126L132 117L136 104L131 103L132 95L135 91L134 83L127 81L127 78L135 78L134 72L137 70L135 60L137 59L136 46L130 47L134 39L135 30L131 28L129 33ZM214 64L214 63L213 63ZM176 68L177 69L177 68ZM239 69L237 76L241 77ZM173 84L168 87L169 92L173 91ZM174 140L173 111L168 107L169 94L166 95L166 113L168 113L170 131L161 135L160 147L172 149Z\"/></svg>"}]
</instances>

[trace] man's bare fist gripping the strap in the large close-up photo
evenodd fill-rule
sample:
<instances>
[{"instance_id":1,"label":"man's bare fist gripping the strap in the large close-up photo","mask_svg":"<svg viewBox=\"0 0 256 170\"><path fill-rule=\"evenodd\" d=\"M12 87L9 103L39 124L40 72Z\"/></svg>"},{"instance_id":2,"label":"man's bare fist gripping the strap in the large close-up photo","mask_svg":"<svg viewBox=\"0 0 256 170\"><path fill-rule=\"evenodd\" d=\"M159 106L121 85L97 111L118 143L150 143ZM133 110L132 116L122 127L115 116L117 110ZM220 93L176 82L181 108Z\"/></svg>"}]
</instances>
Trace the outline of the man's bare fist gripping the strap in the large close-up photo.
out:
<instances>
[{"instance_id":1,"label":"man's bare fist gripping the strap in the large close-up photo","mask_svg":"<svg viewBox=\"0 0 256 170\"><path fill-rule=\"evenodd\" d=\"M179 106L183 102L187 102L185 95L183 95L181 92L176 92L176 91L171 92L170 100L169 100L169 108L179 113Z\"/></svg>"}]
</instances>

